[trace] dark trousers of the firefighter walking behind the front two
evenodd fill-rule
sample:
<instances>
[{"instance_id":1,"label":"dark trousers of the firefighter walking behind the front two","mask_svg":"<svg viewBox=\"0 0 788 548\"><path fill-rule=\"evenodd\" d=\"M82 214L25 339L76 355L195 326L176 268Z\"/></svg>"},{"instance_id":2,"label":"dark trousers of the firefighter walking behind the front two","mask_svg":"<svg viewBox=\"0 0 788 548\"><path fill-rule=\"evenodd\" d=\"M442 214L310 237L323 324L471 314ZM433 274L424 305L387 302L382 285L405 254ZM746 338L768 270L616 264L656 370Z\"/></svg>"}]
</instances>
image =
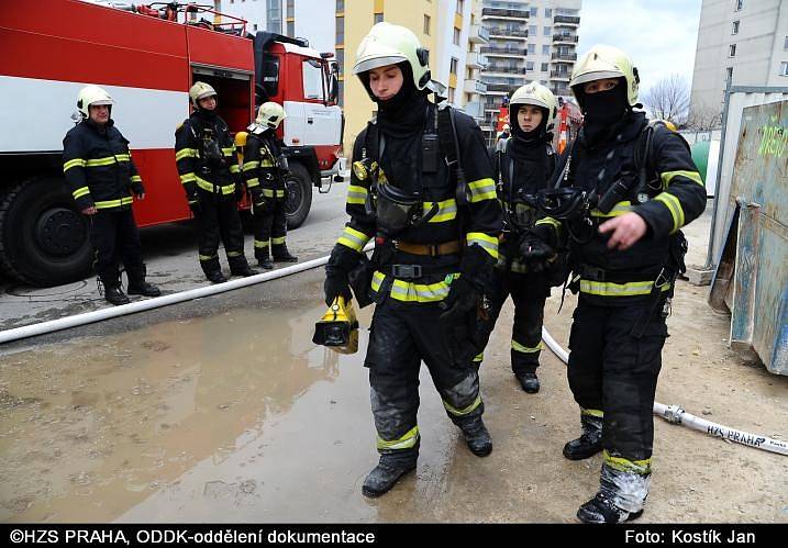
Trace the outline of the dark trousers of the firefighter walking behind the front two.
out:
<instances>
[{"instance_id":1,"label":"dark trousers of the firefighter walking behind the front two","mask_svg":"<svg viewBox=\"0 0 788 548\"><path fill-rule=\"evenodd\" d=\"M491 291L488 295L490 301L488 318L479 324L480 333L477 339L480 345L476 361L481 361L482 353L501 313L501 307L511 295L514 304L514 325L511 339L512 372L514 374L535 372L542 353L544 302L550 290L542 275L519 273L496 268Z\"/></svg>"}]
</instances>

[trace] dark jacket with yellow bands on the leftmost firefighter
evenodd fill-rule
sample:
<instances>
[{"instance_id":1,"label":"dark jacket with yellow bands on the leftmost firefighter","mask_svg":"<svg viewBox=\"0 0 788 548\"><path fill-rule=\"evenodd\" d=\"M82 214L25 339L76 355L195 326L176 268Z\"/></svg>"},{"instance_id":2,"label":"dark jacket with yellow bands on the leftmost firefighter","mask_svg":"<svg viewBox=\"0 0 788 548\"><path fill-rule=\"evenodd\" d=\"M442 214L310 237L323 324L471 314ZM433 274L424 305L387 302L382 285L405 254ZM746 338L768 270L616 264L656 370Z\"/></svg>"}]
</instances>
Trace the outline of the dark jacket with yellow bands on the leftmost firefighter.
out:
<instances>
[{"instance_id":1,"label":"dark jacket with yellow bands on the leftmost firefighter","mask_svg":"<svg viewBox=\"0 0 788 548\"><path fill-rule=\"evenodd\" d=\"M104 131L89 119L68 131L63 139L63 174L82 211L127 210L135 194L145 192L129 150L129 141L110 120Z\"/></svg>"}]
</instances>

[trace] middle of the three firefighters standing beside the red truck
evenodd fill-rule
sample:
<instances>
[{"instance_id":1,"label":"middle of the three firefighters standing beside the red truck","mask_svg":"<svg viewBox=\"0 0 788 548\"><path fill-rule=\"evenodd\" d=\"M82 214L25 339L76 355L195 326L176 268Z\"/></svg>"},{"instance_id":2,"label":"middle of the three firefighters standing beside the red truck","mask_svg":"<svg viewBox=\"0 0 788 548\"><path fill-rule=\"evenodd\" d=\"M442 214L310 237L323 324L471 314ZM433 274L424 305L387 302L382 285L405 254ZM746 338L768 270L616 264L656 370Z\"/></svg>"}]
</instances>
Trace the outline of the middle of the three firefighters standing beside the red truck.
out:
<instances>
[{"instance_id":1,"label":"middle of the three firefighters standing beside the red truck","mask_svg":"<svg viewBox=\"0 0 788 548\"><path fill-rule=\"evenodd\" d=\"M233 276L253 276L244 255L237 202L244 197L235 144L217 113L215 90L195 82L189 90L192 114L175 132L175 159L189 209L199 230L200 266L213 283L226 281L219 265L219 239Z\"/></svg>"}]
</instances>

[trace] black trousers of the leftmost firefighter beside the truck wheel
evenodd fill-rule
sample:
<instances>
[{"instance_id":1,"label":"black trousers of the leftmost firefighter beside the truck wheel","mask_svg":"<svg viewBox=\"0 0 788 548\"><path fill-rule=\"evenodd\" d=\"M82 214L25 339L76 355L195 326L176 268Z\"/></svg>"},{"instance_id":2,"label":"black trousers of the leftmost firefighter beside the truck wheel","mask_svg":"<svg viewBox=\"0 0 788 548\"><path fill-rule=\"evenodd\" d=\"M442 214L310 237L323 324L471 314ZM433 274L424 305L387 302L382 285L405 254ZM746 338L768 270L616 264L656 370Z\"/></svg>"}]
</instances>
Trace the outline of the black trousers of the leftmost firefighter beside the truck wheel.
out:
<instances>
[{"instance_id":1,"label":"black trousers of the leftmost firefighter beside the truck wheel","mask_svg":"<svg viewBox=\"0 0 788 548\"><path fill-rule=\"evenodd\" d=\"M143 272L140 232L132 210L99 210L89 215L90 243L95 250L93 268L106 288L120 286L119 262L123 262L129 279L136 283ZM144 275L142 275L144 278Z\"/></svg>"}]
</instances>

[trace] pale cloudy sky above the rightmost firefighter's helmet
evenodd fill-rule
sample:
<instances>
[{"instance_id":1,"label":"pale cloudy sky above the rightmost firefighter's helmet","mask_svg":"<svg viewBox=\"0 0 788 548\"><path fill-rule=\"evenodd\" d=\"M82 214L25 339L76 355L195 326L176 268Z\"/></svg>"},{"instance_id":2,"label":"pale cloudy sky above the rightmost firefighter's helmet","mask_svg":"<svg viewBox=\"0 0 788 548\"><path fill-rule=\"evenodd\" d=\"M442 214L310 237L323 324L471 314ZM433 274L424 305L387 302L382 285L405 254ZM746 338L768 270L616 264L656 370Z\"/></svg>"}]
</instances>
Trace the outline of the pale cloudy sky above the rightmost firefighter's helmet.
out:
<instances>
[{"instance_id":1,"label":"pale cloudy sky above the rightmost firefighter's helmet","mask_svg":"<svg viewBox=\"0 0 788 548\"><path fill-rule=\"evenodd\" d=\"M692 81L701 0L582 0L578 52L608 44L630 55L641 93L678 74Z\"/></svg>"}]
</instances>

